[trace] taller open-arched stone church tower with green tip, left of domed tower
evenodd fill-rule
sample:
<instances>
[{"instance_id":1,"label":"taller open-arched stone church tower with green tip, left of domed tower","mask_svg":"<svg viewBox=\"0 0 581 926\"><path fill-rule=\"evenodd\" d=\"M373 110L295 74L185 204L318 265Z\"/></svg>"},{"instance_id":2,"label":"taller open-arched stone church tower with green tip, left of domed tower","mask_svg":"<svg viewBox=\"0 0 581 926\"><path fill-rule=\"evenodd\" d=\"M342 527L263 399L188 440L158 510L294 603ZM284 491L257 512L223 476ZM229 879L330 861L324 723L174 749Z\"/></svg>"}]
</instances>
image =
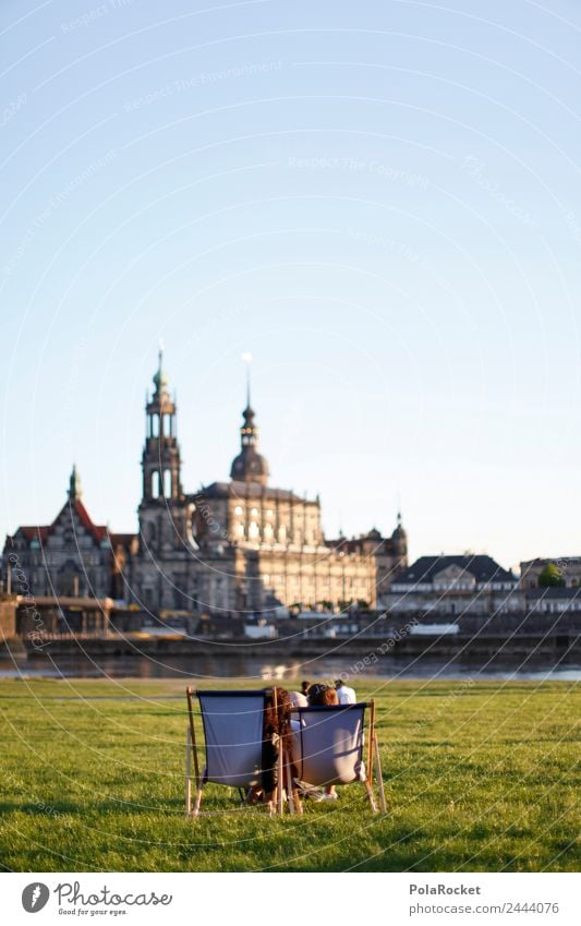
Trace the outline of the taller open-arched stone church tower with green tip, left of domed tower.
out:
<instances>
[{"instance_id":1,"label":"taller open-arched stone church tower with green tip, left of domed tower","mask_svg":"<svg viewBox=\"0 0 581 926\"><path fill-rule=\"evenodd\" d=\"M142 456L143 501L177 501L182 495L180 446L177 433L177 406L168 392L164 353L154 376L154 394L147 399L146 435Z\"/></svg>"}]
</instances>

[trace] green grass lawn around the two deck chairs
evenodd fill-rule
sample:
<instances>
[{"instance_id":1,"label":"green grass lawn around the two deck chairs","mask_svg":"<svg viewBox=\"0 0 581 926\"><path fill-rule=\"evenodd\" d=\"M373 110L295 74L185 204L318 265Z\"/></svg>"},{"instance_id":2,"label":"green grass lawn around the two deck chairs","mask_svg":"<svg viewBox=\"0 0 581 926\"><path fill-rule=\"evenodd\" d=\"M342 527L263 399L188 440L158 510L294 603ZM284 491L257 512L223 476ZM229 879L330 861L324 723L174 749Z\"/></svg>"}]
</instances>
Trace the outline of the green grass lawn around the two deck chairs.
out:
<instances>
[{"instance_id":1,"label":"green grass lawn around the two deck chairs","mask_svg":"<svg viewBox=\"0 0 581 926\"><path fill-rule=\"evenodd\" d=\"M388 814L372 816L351 785L274 820L211 785L213 813L184 818L183 689L0 682L0 866L579 870L579 686L366 681L358 694L378 705Z\"/></svg>"}]
</instances>

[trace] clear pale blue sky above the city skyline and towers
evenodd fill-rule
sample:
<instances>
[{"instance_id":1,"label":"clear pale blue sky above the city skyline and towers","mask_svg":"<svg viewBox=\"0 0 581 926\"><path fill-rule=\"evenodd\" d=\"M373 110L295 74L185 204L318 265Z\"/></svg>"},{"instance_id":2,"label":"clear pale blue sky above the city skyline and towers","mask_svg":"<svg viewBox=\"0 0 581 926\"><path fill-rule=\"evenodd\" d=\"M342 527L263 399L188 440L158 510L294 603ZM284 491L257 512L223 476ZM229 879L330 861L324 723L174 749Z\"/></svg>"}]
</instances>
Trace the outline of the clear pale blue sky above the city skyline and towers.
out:
<instances>
[{"instance_id":1,"label":"clear pale blue sky above the city skyline and towers","mask_svg":"<svg viewBox=\"0 0 581 926\"><path fill-rule=\"evenodd\" d=\"M76 461L136 526L157 346L182 482L251 351L273 484L412 556L581 553L581 8L0 5L0 531Z\"/></svg>"}]
</instances>

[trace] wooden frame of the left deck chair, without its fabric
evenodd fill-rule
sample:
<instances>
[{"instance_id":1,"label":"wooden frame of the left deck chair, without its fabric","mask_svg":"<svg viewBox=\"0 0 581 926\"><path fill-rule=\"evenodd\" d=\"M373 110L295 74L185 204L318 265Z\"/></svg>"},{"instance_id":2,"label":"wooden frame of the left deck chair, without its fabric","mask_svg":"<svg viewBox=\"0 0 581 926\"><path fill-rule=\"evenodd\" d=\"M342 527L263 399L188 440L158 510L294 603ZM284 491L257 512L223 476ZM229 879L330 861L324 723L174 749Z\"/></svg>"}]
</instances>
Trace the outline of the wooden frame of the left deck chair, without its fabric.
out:
<instances>
[{"instance_id":1,"label":"wooden frame of the left deck chair, without its fabric","mask_svg":"<svg viewBox=\"0 0 581 926\"><path fill-rule=\"evenodd\" d=\"M266 705L266 700L268 697L268 689L261 690L205 690L205 692L196 692L191 687L187 687L185 690L187 697L187 715L189 715L189 724L186 731L186 744L185 744L185 816L186 817L198 817L201 814L201 804L202 804L202 795L203 789L205 785L204 773L201 771L199 766L199 757L198 757L198 746L196 741L196 732L195 732L195 722L194 722L194 697L209 696L209 697L252 697L257 696L261 697L263 703ZM276 700L276 689L274 689L274 705L275 710L277 707ZM206 767L208 763L208 755L207 755L207 737L206 737L206 726L204 720L204 712L201 706L201 715L202 722L204 725L204 738L206 741ZM194 797L194 807L192 809L192 762L194 766L194 774L193 781L195 783L195 797ZM273 801L267 805L268 810L271 816L274 816L277 811L282 813L282 802L283 802L283 789L285 783L288 787L289 802L291 804L291 810L294 811L294 806L299 808L299 811L302 810L299 796L295 791L294 782L292 781L292 774L290 770L290 758L286 755L283 748L279 749L278 756L278 785L275 789L275 793L273 795ZM239 789L240 791L240 789Z\"/></svg>"}]
</instances>

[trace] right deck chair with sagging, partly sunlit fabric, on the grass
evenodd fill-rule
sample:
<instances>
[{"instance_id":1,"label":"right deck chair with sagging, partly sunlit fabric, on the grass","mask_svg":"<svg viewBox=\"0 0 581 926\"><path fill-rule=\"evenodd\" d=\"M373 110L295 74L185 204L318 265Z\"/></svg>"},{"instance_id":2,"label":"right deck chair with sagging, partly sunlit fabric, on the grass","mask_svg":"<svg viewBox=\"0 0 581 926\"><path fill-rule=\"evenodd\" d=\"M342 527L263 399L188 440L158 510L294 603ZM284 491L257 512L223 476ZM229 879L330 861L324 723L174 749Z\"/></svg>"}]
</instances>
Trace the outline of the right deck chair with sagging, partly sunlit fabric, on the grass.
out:
<instances>
[{"instance_id":1,"label":"right deck chair with sagging, partly sunlit fabric, on the grass","mask_svg":"<svg viewBox=\"0 0 581 926\"><path fill-rule=\"evenodd\" d=\"M364 770L365 710L370 711L367 733L367 767ZM295 766L299 778L310 785L351 784L360 781L365 786L372 810L377 813L373 793L373 771L379 792L379 805L386 811L384 781L379 748L375 733L374 701L356 705L329 705L299 708L299 729L295 732L298 748Z\"/></svg>"}]
</instances>

